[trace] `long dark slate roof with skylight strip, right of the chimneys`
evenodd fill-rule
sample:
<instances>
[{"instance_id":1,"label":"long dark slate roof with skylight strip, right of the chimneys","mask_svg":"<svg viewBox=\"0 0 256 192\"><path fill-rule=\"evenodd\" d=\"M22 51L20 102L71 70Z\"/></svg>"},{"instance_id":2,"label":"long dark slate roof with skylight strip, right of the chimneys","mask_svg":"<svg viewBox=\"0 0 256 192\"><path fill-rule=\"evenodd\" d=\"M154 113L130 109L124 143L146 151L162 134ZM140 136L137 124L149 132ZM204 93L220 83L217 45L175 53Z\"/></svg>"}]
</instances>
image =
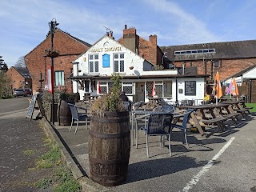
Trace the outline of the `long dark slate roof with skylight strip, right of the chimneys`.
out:
<instances>
[{"instance_id":1,"label":"long dark slate roof with skylight strip, right of the chimneys","mask_svg":"<svg viewBox=\"0 0 256 192\"><path fill-rule=\"evenodd\" d=\"M246 40L237 42L210 42L201 44L190 44L181 46L160 46L162 52L172 61L202 60L212 58L255 58L256 40ZM214 49L215 53L206 54L178 54L174 51L179 50L205 50Z\"/></svg>"}]
</instances>

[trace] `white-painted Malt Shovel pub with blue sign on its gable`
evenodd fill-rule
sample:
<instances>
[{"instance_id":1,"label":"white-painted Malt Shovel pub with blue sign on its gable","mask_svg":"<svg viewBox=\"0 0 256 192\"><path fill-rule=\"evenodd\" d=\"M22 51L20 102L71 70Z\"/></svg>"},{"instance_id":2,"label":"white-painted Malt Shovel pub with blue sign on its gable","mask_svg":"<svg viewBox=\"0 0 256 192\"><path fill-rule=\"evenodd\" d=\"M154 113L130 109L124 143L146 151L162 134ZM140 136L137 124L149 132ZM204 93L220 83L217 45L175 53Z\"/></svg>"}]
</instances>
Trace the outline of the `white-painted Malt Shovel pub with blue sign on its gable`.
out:
<instances>
[{"instance_id":1,"label":"white-painted Malt Shovel pub with blue sign on its gable","mask_svg":"<svg viewBox=\"0 0 256 192\"><path fill-rule=\"evenodd\" d=\"M197 74L194 67L154 70L155 65L136 52L115 41L112 32L107 33L74 60L74 73L70 76L74 80L73 92L78 92L81 99L84 94L110 93L112 74L120 74L122 91L132 102L148 102L154 84L158 98L166 102L203 98L209 75Z\"/></svg>"}]
</instances>

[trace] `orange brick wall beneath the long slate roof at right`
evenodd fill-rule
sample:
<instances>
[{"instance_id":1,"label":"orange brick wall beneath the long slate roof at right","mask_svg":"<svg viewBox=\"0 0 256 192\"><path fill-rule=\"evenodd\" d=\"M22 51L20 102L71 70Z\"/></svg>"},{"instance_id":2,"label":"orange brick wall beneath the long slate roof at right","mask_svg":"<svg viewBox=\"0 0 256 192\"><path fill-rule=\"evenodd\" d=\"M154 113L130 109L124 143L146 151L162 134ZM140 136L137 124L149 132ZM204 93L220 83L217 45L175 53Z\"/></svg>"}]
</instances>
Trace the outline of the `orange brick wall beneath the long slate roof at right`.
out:
<instances>
[{"instance_id":1,"label":"orange brick wall beneath the long slate roof at right","mask_svg":"<svg viewBox=\"0 0 256 192\"><path fill-rule=\"evenodd\" d=\"M218 60L218 67L214 67L214 62L211 61L186 61L187 66L197 66L198 74L210 74L210 79L215 77L218 71L221 80L229 78L232 74L238 73L240 70L246 69L246 67L256 64L256 58L237 58L237 59L220 59ZM212 67L213 65L213 67ZM182 67L182 62L174 62L174 66ZM213 74L213 76L211 76Z\"/></svg>"}]
</instances>

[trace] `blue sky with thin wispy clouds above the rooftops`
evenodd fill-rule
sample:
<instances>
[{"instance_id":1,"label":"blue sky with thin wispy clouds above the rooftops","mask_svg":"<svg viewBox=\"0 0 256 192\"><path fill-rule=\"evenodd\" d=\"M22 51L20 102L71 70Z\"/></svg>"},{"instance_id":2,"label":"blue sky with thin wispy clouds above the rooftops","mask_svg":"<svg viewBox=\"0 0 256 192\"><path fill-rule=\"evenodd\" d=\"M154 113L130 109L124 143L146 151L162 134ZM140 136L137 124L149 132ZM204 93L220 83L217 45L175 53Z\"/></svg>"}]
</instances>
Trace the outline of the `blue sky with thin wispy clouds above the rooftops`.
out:
<instances>
[{"instance_id":1,"label":"blue sky with thin wispy clouds above the rooftops","mask_svg":"<svg viewBox=\"0 0 256 192\"><path fill-rule=\"evenodd\" d=\"M46 38L48 22L94 44L106 34L104 26L122 37L134 26L158 46L255 39L254 0L0 0L0 55L7 65Z\"/></svg>"}]
</instances>

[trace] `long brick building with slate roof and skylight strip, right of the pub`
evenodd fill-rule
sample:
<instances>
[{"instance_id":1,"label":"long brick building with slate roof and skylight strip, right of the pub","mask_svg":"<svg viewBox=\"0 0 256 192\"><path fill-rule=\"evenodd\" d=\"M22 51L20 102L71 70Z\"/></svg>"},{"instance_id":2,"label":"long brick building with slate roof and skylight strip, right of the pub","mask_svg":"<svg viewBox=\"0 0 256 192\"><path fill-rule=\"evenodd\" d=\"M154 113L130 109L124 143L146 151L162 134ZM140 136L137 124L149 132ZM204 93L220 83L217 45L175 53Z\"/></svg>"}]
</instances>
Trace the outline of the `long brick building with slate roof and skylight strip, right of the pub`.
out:
<instances>
[{"instance_id":1,"label":"long brick building with slate roof and skylight strip, right of the pub","mask_svg":"<svg viewBox=\"0 0 256 192\"><path fill-rule=\"evenodd\" d=\"M217 71L224 80L256 64L256 40L161 46L161 49L174 66L196 66L198 74L209 74L209 85Z\"/></svg>"}]
</instances>

